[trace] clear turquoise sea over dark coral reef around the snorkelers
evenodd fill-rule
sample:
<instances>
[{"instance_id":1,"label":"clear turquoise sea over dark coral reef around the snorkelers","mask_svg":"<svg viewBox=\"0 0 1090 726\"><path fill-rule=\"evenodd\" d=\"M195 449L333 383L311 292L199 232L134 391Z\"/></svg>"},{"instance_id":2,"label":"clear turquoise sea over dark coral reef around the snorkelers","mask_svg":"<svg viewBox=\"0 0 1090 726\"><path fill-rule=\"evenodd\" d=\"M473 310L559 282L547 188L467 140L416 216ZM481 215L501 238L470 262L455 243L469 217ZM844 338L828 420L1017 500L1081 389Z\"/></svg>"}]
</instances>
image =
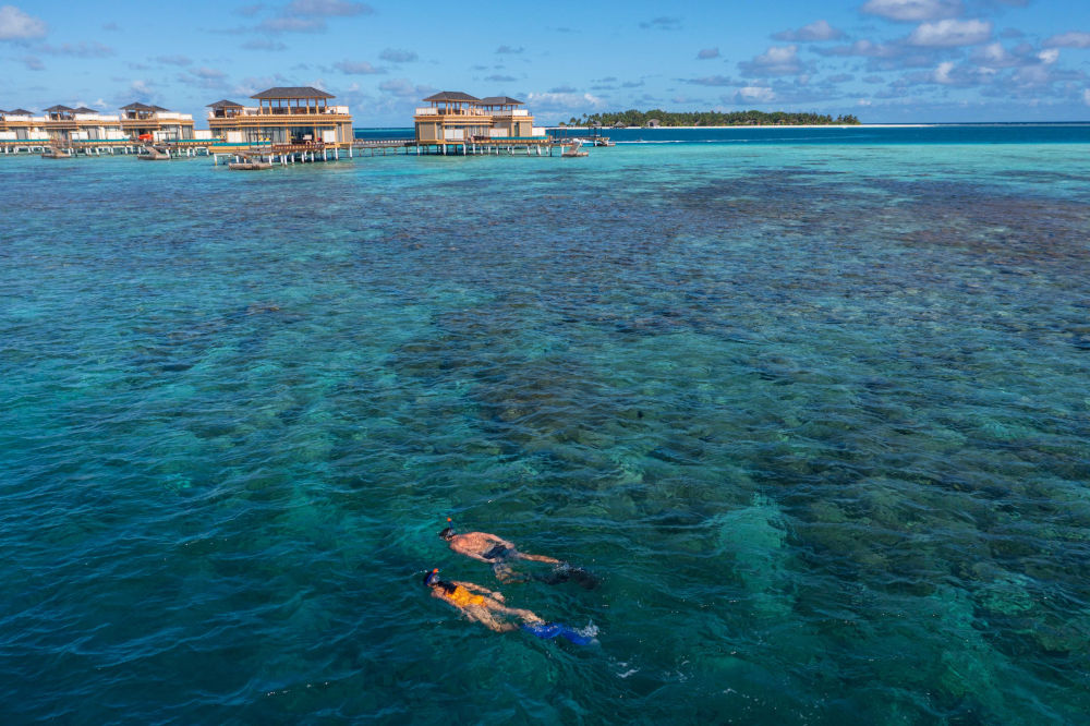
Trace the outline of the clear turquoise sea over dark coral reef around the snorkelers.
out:
<instances>
[{"instance_id":1,"label":"clear turquoise sea over dark coral reef around the snorkelers","mask_svg":"<svg viewBox=\"0 0 1090 726\"><path fill-rule=\"evenodd\" d=\"M0 159L3 722L1086 723L1088 150Z\"/></svg>"}]
</instances>

